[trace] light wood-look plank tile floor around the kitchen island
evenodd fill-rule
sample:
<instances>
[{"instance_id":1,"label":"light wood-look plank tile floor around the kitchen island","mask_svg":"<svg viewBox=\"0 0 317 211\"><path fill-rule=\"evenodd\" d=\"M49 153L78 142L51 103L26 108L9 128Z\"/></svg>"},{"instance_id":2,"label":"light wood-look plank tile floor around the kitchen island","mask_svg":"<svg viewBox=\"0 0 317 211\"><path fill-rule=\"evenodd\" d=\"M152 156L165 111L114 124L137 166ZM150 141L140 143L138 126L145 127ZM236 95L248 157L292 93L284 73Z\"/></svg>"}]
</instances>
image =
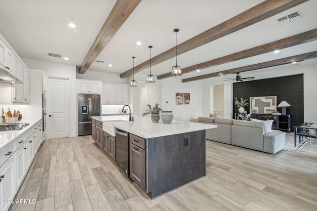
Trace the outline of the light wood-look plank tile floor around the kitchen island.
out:
<instances>
[{"instance_id":1,"label":"light wood-look plank tile floor around the kitchen island","mask_svg":"<svg viewBox=\"0 0 317 211\"><path fill-rule=\"evenodd\" d=\"M317 141L275 155L207 141L207 176L151 200L91 136L43 142L11 211L316 211Z\"/></svg>"}]
</instances>

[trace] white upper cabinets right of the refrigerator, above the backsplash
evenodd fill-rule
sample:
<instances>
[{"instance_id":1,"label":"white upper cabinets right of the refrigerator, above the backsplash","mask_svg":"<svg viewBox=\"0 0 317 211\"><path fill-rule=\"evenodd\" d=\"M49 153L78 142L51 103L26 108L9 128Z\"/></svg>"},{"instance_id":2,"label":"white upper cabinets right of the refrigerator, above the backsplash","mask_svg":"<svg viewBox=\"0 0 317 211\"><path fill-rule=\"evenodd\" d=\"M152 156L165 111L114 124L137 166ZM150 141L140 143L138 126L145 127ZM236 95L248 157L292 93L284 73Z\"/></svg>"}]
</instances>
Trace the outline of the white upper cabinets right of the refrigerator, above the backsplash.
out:
<instances>
[{"instance_id":1,"label":"white upper cabinets right of the refrigerator, above the backsplash","mask_svg":"<svg viewBox=\"0 0 317 211\"><path fill-rule=\"evenodd\" d=\"M103 84L102 104L128 104L129 86L127 84Z\"/></svg>"}]
</instances>

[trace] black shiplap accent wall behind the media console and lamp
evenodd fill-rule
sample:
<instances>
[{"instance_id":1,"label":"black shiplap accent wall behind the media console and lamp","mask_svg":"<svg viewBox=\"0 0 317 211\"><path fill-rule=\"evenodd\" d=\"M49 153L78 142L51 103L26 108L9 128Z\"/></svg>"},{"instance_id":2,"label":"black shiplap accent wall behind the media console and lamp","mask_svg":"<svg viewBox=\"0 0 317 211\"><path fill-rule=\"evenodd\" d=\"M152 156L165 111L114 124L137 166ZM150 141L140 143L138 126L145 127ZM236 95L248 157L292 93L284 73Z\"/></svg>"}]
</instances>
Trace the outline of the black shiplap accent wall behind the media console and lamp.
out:
<instances>
[{"instance_id":1,"label":"black shiplap accent wall behind the media console and lamp","mask_svg":"<svg viewBox=\"0 0 317 211\"><path fill-rule=\"evenodd\" d=\"M248 99L250 97L277 96L277 105L288 102L291 107L286 108L286 114L292 115L292 126L304 122L304 77L303 74L294 76L284 76L271 79L254 80L233 84L233 119L234 113L238 112L238 107L234 105L234 98ZM245 110L250 111L250 106ZM281 107L277 111L282 112Z\"/></svg>"}]
</instances>

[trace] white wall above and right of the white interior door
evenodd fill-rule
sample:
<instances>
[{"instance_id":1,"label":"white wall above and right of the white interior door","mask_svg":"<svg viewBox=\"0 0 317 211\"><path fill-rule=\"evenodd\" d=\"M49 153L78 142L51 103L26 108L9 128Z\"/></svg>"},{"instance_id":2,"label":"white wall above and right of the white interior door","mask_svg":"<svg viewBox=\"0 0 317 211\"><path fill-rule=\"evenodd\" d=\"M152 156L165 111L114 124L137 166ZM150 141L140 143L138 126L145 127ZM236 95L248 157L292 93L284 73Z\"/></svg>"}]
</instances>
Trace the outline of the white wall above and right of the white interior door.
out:
<instances>
[{"instance_id":1,"label":"white wall above and right of the white interior door","mask_svg":"<svg viewBox=\"0 0 317 211\"><path fill-rule=\"evenodd\" d=\"M76 134L76 66L56 63L56 62L47 62L42 60L27 59L22 58L25 64L30 69L43 70L46 74L46 77L58 77L58 78L69 78L69 83L71 88L69 90L69 136L74 137ZM37 83L32 82L31 83ZM50 97L50 93L47 93L47 98ZM49 130L50 128L48 128ZM50 138L50 137L48 137Z\"/></svg>"}]
</instances>

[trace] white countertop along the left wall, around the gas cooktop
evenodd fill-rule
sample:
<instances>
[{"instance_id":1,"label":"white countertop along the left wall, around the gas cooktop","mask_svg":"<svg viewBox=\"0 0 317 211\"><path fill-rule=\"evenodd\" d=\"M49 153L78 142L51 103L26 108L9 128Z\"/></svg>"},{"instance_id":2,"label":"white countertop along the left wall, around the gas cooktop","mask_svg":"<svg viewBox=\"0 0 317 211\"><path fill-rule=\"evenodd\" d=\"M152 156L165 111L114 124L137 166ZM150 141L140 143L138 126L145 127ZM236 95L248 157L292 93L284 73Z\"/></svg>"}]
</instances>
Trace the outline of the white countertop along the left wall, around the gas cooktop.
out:
<instances>
[{"instance_id":1,"label":"white countertop along the left wall, around the gas cooktop","mask_svg":"<svg viewBox=\"0 0 317 211\"><path fill-rule=\"evenodd\" d=\"M19 130L0 131L0 148L4 147L14 139L23 135L29 128L33 127L40 119L22 119L22 123L29 123L28 126Z\"/></svg>"}]
</instances>

